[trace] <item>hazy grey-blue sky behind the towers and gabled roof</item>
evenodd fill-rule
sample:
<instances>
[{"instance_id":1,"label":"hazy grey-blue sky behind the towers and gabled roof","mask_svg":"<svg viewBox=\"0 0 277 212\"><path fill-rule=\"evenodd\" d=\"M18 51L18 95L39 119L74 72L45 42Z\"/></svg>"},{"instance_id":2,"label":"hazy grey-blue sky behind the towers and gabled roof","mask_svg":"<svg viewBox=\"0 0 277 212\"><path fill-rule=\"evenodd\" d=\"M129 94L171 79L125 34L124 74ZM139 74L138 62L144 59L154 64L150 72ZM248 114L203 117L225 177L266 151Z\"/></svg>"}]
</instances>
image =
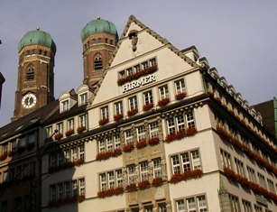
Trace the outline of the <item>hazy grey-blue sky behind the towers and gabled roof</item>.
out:
<instances>
[{"instance_id":1,"label":"hazy grey-blue sky behind the towers and gabled roof","mask_svg":"<svg viewBox=\"0 0 277 212\"><path fill-rule=\"evenodd\" d=\"M57 45L55 97L82 84L80 32L100 16L119 36L133 14L179 50L196 46L200 58L250 105L277 96L277 1L275 0L1 0L0 72L5 77L0 127L14 115L17 45L39 27Z\"/></svg>"}]
</instances>

